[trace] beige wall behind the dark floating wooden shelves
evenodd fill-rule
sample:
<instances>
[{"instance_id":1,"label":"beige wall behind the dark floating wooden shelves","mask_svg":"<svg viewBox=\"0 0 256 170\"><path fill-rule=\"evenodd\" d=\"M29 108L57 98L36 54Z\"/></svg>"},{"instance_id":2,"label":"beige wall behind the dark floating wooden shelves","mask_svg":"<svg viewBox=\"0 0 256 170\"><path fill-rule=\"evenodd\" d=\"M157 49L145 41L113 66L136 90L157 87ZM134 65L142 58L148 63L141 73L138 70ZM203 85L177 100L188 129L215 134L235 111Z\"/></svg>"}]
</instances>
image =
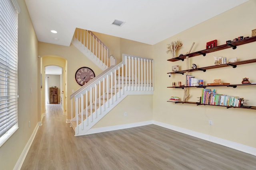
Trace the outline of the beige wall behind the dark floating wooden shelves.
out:
<instances>
[{"instance_id":1,"label":"beige wall behind the dark floating wooden shelves","mask_svg":"<svg viewBox=\"0 0 256 170\"><path fill-rule=\"evenodd\" d=\"M155 61L155 89L153 100L153 120L182 127L206 135L219 137L243 145L256 148L256 111L252 109L226 109L226 107L196 106L191 104L174 104L166 102L170 96L178 96L183 99L183 90L166 88L172 82L185 82L185 75L174 74L171 78L166 74L171 72L173 65L179 65L181 70L186 70L186 62L169 62L171 54L166 54L167 44L177 39L183 42L178 51L186 54L190 46L195 42L192 52L206 49L206 42L218 40L218 45L226 43L238 36L251 36L251 30L256 29L256 1L251 0L228 12L220 14L210 20L200 23L186 31L170 37L154 45ZM189 59L189 68L193 63L198 67L214 65L213 56L223 56L227 59L237 57L239 61L254 59L256 54L256 42L240 45L237 49L225 49ZM207 70L206 72L190 72L191 75L202 78L206 83L214 79L222 79L222 82L240 84L242 78L249 77L251 82L256 82L255 63L239 65L237 68L225 67ZM214 89L212 87L211 89ZM240 96L248 99L248 104L256 106L255 86L238 86L237 88L215 87L216 92L232 96ZM189 88L188 101L196 102L200 97L201 89ZM208 125L208 120L213 125Z\"/></svg>"}]
</instances>

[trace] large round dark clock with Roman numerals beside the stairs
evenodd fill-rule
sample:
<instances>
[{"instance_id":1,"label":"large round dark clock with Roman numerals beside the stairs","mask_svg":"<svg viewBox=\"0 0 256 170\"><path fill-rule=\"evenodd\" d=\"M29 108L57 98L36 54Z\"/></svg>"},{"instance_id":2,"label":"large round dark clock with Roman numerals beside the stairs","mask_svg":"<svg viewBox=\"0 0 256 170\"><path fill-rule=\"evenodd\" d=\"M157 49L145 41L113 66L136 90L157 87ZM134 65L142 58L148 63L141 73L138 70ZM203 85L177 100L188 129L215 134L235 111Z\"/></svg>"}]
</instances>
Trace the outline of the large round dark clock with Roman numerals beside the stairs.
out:
<instances>
[{"instance_id":1,"label":"large round dark clock with Roman numerals beside the stairs","mask_svg":"<svg viewBox=\"0 0 256 170\"><path fill-rule=\"evenodd\" d=\"M90 80L92 80L95 77L94 72L92 69L88 67L81 67L76 71L75 79L76 82L80 86L84 86L84 84L88 83Z\"/></svg>"}]
</instances>

